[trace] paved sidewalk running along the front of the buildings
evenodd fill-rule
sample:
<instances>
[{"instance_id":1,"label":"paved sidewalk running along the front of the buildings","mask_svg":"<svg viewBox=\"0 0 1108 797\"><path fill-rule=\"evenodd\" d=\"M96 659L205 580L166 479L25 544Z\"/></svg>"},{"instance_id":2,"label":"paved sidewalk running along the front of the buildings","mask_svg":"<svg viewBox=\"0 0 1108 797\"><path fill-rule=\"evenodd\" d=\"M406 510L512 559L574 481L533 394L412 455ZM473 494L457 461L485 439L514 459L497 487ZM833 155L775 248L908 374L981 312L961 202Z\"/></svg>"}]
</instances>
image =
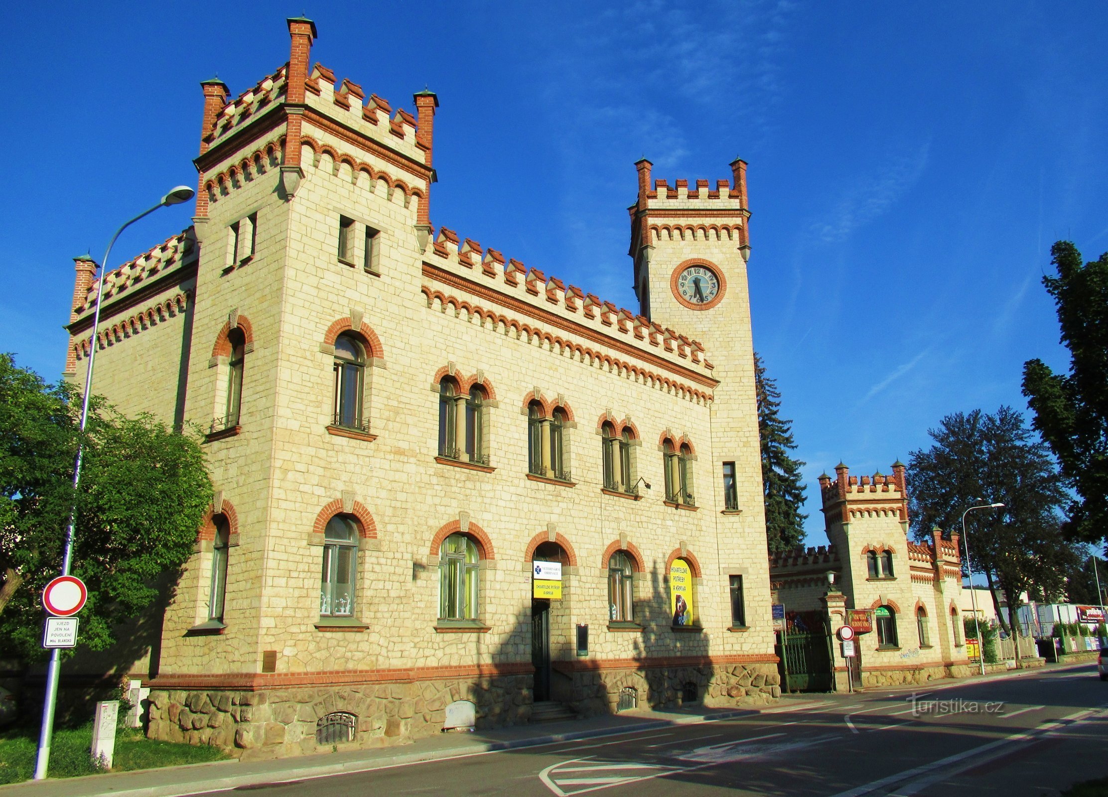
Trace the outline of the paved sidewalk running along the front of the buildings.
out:
<instances>
[{"instance_id":1,"label":"paved sidewalk running along the front of the buildings","mask_svg":"<svg viewBox=\"0 0 1108 797\"><path fill-rule=\"evenodd\" d=\"M984 678L981 676L944 680L926 686L870 688L864 693L899 693L953 688L975 683L988 683L1035 673L1059 672L1088 666L1087 664L1047 665L1036 670L1014 670ZM699 711L655 712L635 709L615 716L541 725L519 725L472 734L440 734L400 747L348 750L343 753L277 758L271 760L226 760L211 764L191 764L181 767L162 767L132 773L110 773L80 778L58 778L0 786L2 797L182 797L198 791L259 786L287 780L301 780L349 773L368 772L386 767L442 760L459 756L473 756L496 750L536 747L557 742L572 742L598 736L649 730L673 725L689 725L738 717L752 717L761 713L783 714L803 712L829 703L849 701L847 693L781 695L779 703L765 707L741 709L701 708Z\"/></svg>"}]
</instances>

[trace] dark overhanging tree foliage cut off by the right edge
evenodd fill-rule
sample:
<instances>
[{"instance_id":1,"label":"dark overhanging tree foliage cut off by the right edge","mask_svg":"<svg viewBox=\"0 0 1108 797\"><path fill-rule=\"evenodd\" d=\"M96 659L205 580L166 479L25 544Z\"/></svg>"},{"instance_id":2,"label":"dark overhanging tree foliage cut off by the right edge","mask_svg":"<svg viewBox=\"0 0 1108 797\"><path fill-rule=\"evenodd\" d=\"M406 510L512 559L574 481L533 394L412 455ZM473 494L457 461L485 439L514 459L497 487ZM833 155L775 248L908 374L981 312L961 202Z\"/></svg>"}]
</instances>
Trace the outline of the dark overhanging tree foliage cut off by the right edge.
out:
<instances>
[{"instance_id":1,"label":"dark overhanging tree foliage cut off by the right edge","mask_svg":"<svg viewBox=\"0 0 1108 797\"><path fill-rule=\"evenodd\" d=\"M1059 241L1050 254L1058 276L1046 276L1043 284L1057 306L1069 372L1028 360L1024 395L1035 428L1078 497L1068 509L1066 533L1096 542L1108 529L1108 253L1083 264L1077 247Z\"/></svg>"}]
</instances>

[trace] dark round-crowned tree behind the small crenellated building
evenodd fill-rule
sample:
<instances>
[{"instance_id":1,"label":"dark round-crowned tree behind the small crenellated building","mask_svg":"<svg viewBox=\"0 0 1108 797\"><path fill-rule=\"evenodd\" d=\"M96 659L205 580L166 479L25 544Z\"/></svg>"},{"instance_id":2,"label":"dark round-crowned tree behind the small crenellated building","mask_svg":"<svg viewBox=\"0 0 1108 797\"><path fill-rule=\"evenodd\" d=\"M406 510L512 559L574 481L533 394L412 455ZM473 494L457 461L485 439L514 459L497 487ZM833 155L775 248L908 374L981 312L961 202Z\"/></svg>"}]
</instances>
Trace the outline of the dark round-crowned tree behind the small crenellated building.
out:
<instances>
[{"instance_id":1,"label":"dark round-crowned tree behind the small crenellated building","mask_svg":"<svg viewBox=\"0 0 1108 797\"><path fill-rule=\"evenodd\" d=\"M911 458L916 539L930 538L935 525L961 534L970 507L1003 503L966 515L974 572L985 574L994 603L995 590L1004 593L1013 613L1025 591L1039 600L1060 596L1077 556L1060 531L1066 491L1047 447L1023 416L1010 407L995 415L955 412L929 433L934 445ZM1003 616L1001 622L1007 631Z\"/></svg>"}]
</instances>

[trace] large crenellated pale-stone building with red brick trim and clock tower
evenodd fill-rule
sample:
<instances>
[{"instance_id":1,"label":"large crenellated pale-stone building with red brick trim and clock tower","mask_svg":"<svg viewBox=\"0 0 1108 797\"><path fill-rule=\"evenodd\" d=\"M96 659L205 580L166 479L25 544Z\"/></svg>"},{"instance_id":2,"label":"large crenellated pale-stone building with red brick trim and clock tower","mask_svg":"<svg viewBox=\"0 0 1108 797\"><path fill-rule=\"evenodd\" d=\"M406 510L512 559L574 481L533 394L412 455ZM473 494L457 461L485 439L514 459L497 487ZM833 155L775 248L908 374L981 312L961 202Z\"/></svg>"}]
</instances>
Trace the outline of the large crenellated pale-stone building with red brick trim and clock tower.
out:
<instances>
[{"instance_id":1,"label":"large crenellated pale-stone building with red brick trim and clock tower","mask_svg":"<svg viewBox=\"0 0 1108 797\"><path fill-rule=\"evenodd\" d=\"M288 29L237 98L202 84L192 226L102 296L76 262L70 378L96 346L95 391L203 427L216 489L142 665L150 735L277 755L456 701L488 726L776 697L746 163L636 164L622 309L432 226L435 95L393 110Z\"/></svg>"}]
</instances>

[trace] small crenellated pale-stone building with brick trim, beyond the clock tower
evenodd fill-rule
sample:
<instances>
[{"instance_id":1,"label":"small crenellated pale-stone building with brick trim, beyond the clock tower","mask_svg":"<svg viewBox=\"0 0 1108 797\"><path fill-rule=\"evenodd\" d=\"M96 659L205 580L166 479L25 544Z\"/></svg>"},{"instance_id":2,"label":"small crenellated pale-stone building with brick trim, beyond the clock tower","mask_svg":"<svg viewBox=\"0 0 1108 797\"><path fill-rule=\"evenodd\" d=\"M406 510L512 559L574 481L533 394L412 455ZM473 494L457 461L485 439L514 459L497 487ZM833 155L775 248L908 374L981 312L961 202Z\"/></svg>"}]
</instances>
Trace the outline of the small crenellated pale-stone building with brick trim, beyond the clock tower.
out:
<instances>
[{"instance_id":1,"label":"small crenellated pale-stone building with brick trim, beyond the clock tower","mask_svg":"<svg viewBox=\"0 0 1108 797\"><path fill-rule=\"evenodd\" d=\"M834 479L820 477L830 544L770 560L787 619L808 617L809 629L822 624L837 636L851 610L864 612L872 631L855 637L853 662L861 686L968 675L958 534L944 539L936 529L926 543L909 540L903 463L893 463L892 476L859 478L841 463L834 470ZM835 688L847 689L842 645L831 648Z\"/></svg>"}]
</instances>

